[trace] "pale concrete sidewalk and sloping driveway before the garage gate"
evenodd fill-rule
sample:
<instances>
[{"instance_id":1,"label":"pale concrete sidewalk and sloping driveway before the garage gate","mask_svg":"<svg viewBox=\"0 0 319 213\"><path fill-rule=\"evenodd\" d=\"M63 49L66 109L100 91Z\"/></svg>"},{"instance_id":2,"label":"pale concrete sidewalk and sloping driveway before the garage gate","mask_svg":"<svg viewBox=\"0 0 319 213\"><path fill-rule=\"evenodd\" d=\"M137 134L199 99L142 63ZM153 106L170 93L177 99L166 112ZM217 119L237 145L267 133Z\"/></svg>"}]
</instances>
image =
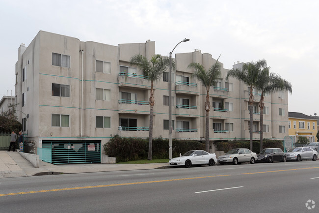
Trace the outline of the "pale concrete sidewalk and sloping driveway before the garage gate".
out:
<instances>
[{"instance_id":1,"label":"pale concrete sidewalk and sloping driveway before the garage gate","mask_svg":"<svg viewBox=\"0 0 319 213\"><path fill-rule=\"evenodd\" d=\"M168 167L168 163L147 164L59 164L53 165L40 160L39 168L27 161L19 152L0 151L0 178L33 175L55 175L86 172L109 172L125 170L157 169Z\"/></svg>"}]
</instances>

